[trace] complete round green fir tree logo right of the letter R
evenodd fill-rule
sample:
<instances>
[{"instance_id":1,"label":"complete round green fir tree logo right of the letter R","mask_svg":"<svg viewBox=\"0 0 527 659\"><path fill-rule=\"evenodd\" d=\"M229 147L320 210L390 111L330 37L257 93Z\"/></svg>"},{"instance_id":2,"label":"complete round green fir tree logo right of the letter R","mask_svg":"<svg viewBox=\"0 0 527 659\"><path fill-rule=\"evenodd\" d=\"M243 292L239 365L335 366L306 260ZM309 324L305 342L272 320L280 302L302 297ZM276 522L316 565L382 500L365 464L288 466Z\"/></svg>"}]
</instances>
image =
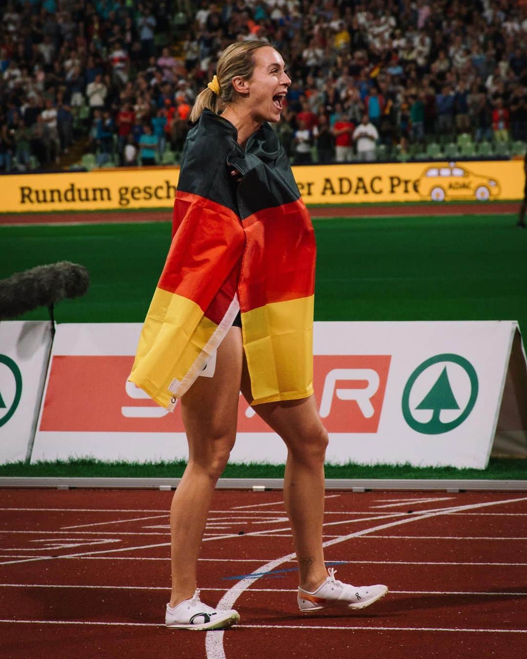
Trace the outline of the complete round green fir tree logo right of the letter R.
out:
<instances>
[{"instance_id":1,"label":"complete round green fir tree logo right of the letter R","mask_svg":"<svg viewBox=\"0 0 527 659\"><path fill-rule=\"evenodd\" d=\"M416 432L439 435L460 426L477 398L474 366L460 355L435 355L408 378L402 393L402 416Z\"/></svg>"}]
</instances>

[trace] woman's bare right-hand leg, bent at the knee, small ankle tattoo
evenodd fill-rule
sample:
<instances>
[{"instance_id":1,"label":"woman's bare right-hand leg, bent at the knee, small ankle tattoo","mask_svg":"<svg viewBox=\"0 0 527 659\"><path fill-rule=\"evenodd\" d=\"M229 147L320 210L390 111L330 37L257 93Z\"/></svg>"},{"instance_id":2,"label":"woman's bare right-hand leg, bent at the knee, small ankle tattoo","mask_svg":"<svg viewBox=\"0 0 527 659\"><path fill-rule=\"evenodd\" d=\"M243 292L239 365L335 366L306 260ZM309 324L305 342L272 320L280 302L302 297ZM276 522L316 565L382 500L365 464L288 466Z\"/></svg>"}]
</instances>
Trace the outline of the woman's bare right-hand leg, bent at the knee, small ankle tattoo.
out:
<instances>
[{"instance_id":1,"label":"woman's bare right-hand leg, bent at the knee, small ankle tattoo","mask_svg":"<svg viewBox=\"0 0 527 659\"><path fill-rule=\"evenodd\" d=\"M250 401L245 364L242 393ZM298 558L300 587L316 590L327 577L322 548L327 432L313 396L299 401L255 405L254 411L287 445L284 500Z\"/></svg>"}]
</instances>

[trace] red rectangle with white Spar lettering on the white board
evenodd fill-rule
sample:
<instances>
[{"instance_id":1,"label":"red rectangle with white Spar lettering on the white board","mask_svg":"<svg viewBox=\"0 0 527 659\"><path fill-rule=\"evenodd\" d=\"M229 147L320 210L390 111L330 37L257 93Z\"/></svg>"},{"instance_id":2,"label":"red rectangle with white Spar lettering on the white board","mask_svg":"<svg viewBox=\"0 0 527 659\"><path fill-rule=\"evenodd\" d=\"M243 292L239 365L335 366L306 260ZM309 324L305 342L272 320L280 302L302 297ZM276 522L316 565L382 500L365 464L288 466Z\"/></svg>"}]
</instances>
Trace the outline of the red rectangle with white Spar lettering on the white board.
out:
<instances>
[{"instance_id":1,"label":"red rectangle with white Spar lettering on the white board","mask_svg":"<svg viewBox=\"0 0 527 659\"><path fill-rule=\"evenodd\" d=\"M39 432L184 432L179 403L167 413L126 382L133 360L55 355ZM377 432L390 360L390 355L315 355L315 395L329 432ZM270 432L241 396L238 432Z\"/></svg>"}]
</instances>

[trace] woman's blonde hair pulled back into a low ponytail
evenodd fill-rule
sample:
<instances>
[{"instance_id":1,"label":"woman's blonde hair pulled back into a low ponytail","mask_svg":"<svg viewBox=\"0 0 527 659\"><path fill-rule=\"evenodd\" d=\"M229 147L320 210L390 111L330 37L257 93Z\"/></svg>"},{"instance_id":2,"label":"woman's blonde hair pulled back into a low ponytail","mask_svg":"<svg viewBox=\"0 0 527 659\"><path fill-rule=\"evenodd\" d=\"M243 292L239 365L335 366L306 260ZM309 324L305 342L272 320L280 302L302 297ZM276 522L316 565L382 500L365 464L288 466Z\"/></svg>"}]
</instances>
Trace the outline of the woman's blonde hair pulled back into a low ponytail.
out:
<instances>
[{"instance_id":1,"label":"woman's blonde hair pulled back into a low ponytail","mask_svg":"<svg viewBox=\"0 0 527 659\"><path fill-rule=\"evenodd\" d=\"M190 111L190 121L198 121L204 109L217 112L224 105L235 100L235 88L233 78L241 76L250 80L256 67L254 52L259 48L271 46L264 39L250 42L236 42L227 46L217 64L217 81L219 83L219 94L215 94L211 88L206 87L196 98L194 107ZM272 46L271 46L272 47Z\"/></svg>"}]
</instances>

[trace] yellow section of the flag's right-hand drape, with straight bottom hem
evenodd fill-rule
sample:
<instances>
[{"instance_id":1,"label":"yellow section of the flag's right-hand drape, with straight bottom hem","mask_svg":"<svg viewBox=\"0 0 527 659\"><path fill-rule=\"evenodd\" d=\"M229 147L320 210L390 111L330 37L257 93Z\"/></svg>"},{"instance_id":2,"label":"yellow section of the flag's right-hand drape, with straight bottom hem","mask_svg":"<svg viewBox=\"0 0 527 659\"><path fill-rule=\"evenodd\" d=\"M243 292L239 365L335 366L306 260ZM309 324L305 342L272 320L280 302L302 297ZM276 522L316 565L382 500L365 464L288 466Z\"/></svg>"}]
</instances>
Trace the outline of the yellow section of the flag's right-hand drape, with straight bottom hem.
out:
<instances>
[{"instance_id":1,"label":"yellow section of the flag's right-hand drape, with straight bottom hem","mask_svg":"<svg viewBox=\"0 0 527 659\"><path fill-rule=\"evenodd\" d=\"M313 393L314 296L265 304L242 314L255 405Z\"/></svg>"}]
</instances>

